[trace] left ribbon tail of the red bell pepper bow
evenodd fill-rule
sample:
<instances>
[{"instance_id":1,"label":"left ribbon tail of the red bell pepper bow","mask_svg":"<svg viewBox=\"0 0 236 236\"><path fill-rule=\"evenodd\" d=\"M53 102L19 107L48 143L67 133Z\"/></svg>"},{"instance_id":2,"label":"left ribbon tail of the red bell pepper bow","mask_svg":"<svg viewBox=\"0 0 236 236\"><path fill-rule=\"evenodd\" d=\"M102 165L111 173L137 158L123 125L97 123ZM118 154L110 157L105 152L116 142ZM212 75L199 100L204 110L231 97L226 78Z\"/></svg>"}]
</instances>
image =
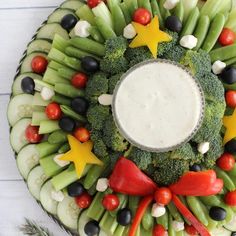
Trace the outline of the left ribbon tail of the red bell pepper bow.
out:
<instances>
[{"instance_id":1,"label":"left ribbon tail of the red bell pepper bow","mask_svg":"<svg viewBox=\"0 0 236 236\"><path fill-rule=\"evenodd\" d=\"M145 214L145 212L146 212L148 206L151 204L152 200L153 200L153 196L150 195L150 196L146 196L145 198L143 198L140 201L138 209L137 209L134 219L133 219L133 223L132 223L130 230L129 230L129 236L135 236L137 228L143 218L143 215Z\"/></svg>"}]
</instances>

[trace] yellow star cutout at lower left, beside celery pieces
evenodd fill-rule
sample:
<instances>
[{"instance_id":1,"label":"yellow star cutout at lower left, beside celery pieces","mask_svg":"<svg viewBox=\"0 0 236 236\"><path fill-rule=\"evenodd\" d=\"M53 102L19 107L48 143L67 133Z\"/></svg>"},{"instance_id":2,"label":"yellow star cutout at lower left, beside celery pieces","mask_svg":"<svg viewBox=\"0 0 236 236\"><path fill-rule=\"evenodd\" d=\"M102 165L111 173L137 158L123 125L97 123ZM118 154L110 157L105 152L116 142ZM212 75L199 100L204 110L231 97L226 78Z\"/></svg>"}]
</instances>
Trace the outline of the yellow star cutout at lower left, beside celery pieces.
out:
<instances>
[{"instance_id":1,"label":"yellow star cutout at lower left, beside celery pieces","mask_svg":"<svg viewBox=\"0 0 236 236\"><path fill-rule=\"evenodd\" d=\"M87 164L103 165L103 162L92 153L93 143L91 141L81 143L71 135L68 135L67 138L71 149L59 159L74 162L75 170L79 178L83 174Z\"/></svg>"}]
</instances>

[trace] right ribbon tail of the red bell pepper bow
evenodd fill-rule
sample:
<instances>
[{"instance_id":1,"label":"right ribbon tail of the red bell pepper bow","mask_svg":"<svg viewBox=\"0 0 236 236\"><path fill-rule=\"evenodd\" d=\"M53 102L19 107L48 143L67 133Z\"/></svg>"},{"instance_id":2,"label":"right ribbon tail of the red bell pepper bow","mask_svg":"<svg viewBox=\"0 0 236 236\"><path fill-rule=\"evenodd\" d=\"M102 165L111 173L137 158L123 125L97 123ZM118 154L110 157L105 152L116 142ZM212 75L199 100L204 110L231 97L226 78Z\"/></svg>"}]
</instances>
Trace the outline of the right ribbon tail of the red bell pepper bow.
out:
<instances>
[{"instance_id":1,"label":"right ribbon tail of the red bell pepper bow","mask_svg":"<svg viewBox=\"0 0 236 236\"><path fill-rule=\"evenodd\" d=\"M186 218L192 226L199 232L201 236L210 236L207 228L198 221L198 219L192 214L192 212L180 201L180 199L173 194L172 201L175 204L179 212Z\"/></svg>"}]
</instances>

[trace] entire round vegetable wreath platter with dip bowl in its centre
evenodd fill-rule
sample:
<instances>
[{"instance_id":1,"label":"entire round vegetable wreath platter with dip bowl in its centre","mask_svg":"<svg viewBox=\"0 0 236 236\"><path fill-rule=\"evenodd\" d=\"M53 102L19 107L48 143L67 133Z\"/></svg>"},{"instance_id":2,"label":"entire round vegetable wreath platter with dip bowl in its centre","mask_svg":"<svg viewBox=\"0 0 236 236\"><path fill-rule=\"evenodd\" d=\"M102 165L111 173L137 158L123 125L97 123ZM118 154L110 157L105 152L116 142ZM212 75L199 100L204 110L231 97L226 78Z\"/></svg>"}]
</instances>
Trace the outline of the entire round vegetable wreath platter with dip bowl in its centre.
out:
<instances>
[{"instance_id":1,"label":"entire round vegetable wreath platter with dip bowl in its centre","mask_svg":"<svg viewBox=\"0 0 236 236\"><path fill-rule=\"evenodd\" d=\"M235 31L232 0L55 10L8 106L42 207L81 236L236 235Z\"/></svg>"}]
</instances>

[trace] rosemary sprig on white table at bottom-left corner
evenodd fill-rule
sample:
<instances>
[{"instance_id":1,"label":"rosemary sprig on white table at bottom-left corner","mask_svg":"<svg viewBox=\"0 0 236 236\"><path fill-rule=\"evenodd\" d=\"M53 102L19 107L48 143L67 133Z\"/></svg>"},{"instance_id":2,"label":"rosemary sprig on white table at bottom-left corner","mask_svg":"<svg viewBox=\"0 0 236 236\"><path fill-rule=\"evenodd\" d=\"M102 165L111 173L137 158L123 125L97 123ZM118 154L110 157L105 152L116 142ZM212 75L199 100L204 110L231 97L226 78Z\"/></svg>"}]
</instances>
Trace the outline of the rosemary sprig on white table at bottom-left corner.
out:
<instances>
[{"instance_id":1,"label":"rosemary sprig on white table at bottom-left corner","mask_svg":"<svg viewBox=\"0 0 236 236\"><path fill-rule=\"evenodd\" d=\"M25 224L19 227L19 230L24 235L33 235L33 236L53 236L52 233L48 231L47 228L37 225L35 221L25 218Z\"/></svg>"}]
</instances>

